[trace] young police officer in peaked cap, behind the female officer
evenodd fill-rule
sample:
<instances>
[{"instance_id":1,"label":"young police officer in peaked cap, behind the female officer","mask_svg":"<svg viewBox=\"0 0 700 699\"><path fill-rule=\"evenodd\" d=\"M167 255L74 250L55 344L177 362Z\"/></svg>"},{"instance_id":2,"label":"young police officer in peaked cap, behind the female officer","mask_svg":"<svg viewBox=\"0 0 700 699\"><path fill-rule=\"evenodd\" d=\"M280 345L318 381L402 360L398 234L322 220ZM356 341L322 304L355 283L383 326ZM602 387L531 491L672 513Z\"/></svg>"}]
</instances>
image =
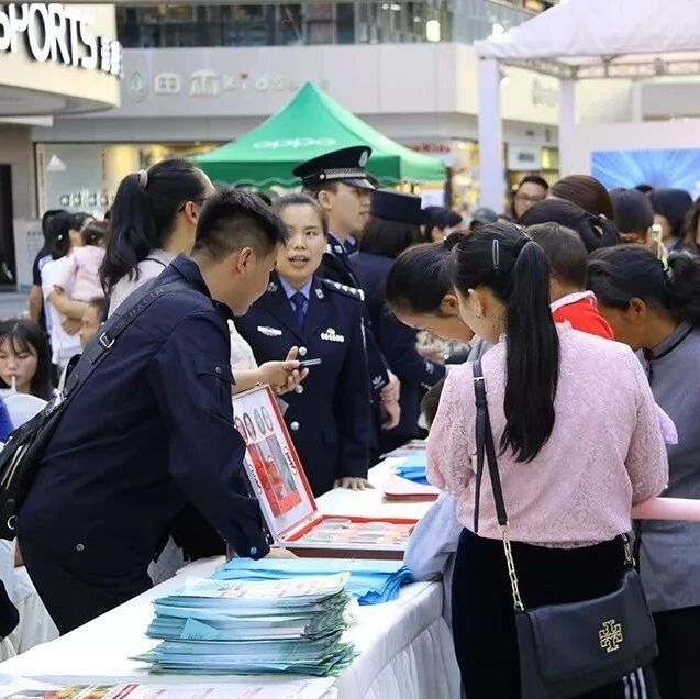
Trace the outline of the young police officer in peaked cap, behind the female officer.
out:
<instances>
[{"instance_id":1,"label":"young police officer in peaked cap, behind the female officer","mask_svg":"<svg viewBox=\"0 0 700 699\"><path fill-rule=\"evenodd\" d=\"M301 178L304 192L312 196L329 218L329 244L323 257L322 276L351 288L359 288L348 260L348 240L358 235L367 219L377 180L365 170L371 155L367 146L352 146L325 153L302 163L293 175ZM400 382L389 370L366 314L367 355L376 419L385 429L400 420Z\"/></svg>"}]
</instances>

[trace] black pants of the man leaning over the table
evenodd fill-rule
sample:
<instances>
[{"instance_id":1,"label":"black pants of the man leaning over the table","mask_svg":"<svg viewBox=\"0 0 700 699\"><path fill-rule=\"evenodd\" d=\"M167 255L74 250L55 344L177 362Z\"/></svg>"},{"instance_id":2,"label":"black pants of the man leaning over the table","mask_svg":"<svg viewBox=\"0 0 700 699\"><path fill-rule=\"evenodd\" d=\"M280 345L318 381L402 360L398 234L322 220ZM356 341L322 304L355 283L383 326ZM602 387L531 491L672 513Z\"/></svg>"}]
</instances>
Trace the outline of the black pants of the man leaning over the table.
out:
<instances>
[{"instance_id":1,"label":"black pants of the man leaning over the table","mask_svg":"<svg viewBox=\"0 0 700 699\"><path fill-rule=\"evenodd\" d=\"M67 569L54 552L22 539L22 558L38 596L64 634L91 621L152 587L148 574L126 578L96 576Z\"/></svg>"}]
</instances>

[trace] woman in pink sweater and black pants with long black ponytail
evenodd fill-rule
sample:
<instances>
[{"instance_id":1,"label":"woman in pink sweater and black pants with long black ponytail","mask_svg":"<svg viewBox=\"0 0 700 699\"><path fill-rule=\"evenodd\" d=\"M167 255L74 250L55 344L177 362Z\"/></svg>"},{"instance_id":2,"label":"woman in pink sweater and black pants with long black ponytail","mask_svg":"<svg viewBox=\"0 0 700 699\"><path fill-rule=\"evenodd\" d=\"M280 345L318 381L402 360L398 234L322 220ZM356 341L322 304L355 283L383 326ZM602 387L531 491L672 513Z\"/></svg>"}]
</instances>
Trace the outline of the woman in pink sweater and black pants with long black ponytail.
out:
<instances>
[{"instance_id":1,"label":"woman in pink sweater and black pants with long black ponytail","mask_svg":"<svg viewBox=\"0 0 700 699\"><path fill-rule=\"evenodd\" d=\"M460 317L493 345L482 375L526 608L616 590L632 504L658 495L668 476L640 363L624 345L556 325L549 274L542 248L509 223L462 238L451 257ZM445 380L429 478L456 497L465 528L452 588L465 694L511 699L520 696L513 600L489 478L480 486L476 532L475 432L467 363ZM622 698L623 681L586 697Z\"/></svg>"}]
</instances>

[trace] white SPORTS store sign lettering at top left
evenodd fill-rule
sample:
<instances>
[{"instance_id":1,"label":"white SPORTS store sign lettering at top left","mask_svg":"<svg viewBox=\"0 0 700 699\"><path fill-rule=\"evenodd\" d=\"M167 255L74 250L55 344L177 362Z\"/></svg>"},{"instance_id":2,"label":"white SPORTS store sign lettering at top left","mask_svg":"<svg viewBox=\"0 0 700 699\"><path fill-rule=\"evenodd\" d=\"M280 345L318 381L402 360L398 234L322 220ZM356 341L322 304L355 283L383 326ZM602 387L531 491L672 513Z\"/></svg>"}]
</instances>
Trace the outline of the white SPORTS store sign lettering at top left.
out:
<instances>
[{"instance_id":1,"label":"white SPORTS store sign lettering at top left","mask_svg":"<svg viewBox=\"0 0 700 699\"><path fill-rule=\"evenodd\" d=\"M57 3L0 5L0 52L22 48L37 63L57 63L113 76L122 73L122 46L90 30L85 11Z\"/></svg>"}]
</instances>

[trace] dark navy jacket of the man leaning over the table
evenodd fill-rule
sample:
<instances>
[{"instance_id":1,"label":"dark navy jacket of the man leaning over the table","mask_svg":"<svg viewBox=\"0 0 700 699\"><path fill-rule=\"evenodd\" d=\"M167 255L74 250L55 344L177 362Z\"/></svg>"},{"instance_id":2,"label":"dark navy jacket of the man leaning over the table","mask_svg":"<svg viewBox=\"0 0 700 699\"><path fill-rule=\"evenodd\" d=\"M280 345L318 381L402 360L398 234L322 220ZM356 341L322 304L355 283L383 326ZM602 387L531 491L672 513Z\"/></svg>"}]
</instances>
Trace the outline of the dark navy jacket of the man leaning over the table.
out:
<instances>
[{"instance_id":1,"label":"dark navy jacket of the man leaning over the table","mask_svg":"<svg viewBox=\"0 0 700 699\"><path fill-rule=\"evenodd\" d=\"M88 584L145 580L189 502L240 555L268 552L233 425L231 312L185 256L154 284L181 280L192 289L138 315L78 389L20 511L20 543Z\"/></svg>"}]
</instances>

